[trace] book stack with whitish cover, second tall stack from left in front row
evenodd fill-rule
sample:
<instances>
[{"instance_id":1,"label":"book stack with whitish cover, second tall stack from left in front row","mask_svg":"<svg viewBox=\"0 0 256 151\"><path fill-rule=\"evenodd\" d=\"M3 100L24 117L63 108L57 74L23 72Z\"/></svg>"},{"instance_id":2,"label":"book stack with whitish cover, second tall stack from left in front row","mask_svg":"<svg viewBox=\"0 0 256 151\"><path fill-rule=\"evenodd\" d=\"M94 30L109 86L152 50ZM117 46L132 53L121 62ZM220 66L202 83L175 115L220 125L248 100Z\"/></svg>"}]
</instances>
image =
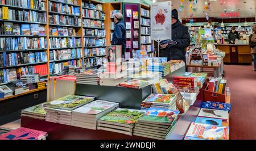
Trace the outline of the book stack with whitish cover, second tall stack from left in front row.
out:
<instances>
[{"instance_id":1,"label":"book stack with whitish cover, second tall stack from left in front row","mask_svg":"<svg viewBox=\"0 0 256 151\"><path fill-rule=\"evenodd\" d=\"M97 119L118 108L118 103L95 100L72 111L72 126L97 129Z\"/></svg>"}]
</instances>

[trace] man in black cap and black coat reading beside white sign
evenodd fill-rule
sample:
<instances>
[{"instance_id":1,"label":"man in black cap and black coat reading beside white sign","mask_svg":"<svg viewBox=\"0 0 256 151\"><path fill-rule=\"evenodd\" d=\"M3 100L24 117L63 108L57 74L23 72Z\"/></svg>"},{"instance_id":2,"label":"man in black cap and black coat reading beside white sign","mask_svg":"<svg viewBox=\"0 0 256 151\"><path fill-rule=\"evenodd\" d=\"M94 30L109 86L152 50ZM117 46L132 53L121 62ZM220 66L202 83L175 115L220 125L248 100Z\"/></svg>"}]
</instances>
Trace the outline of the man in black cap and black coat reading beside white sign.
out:
<instances>
[{"instance_id":1,"label":"man in black cap and black coat reading beside white sign","mask_svg":"<svg viewBox=\"0 0 256 151\"><path fill-rule=\"evenodd\" d=\"M167 57L168 60L183 60L186 62L185 48L190 43L188 27L180 23L177 10L172 10L172 40L160 41L162 56Z\"/></svg>"}]
</instances>

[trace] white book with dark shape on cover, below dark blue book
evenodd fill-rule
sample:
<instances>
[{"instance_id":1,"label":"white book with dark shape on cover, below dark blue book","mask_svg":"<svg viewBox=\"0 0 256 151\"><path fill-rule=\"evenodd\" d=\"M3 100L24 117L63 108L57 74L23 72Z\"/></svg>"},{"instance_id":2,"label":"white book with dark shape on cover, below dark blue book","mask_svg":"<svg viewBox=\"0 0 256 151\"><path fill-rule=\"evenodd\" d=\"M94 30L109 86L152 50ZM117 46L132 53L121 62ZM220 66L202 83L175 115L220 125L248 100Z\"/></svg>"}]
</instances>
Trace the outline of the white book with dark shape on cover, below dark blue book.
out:
<instances>
[{"instance_id":1,"label":"white book with dark shape on cover, below dark blue book","mask_svg":"<svg viewBox=\"0 0 256 151\"><path fill-rule=\"evenodd\" d=\"M226 120L228 120L228 115L229 115L228 111L201 108L198 116L222 119L222 120L226 121Z\"/></svg>"}]
</instances>

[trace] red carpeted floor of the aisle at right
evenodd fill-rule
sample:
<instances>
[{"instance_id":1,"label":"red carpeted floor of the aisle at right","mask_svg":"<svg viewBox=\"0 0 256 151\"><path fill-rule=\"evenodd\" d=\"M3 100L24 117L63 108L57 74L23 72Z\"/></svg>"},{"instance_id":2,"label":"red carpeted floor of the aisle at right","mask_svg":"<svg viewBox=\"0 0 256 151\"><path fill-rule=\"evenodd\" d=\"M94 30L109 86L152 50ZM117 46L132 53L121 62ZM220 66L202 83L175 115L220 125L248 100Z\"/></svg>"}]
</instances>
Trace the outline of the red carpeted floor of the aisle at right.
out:
<instances>
[{"instance_id":1,"label":"red carpeted floor of the aisle at right","mask_svg":"<svg viewBox=\"0 0 256 151\"><path fill-rule=\"evenodd\" d=\"M225 65L231 91L230 139L256 140L256 72L253 66Z\"/></svg>"}]
</instances>

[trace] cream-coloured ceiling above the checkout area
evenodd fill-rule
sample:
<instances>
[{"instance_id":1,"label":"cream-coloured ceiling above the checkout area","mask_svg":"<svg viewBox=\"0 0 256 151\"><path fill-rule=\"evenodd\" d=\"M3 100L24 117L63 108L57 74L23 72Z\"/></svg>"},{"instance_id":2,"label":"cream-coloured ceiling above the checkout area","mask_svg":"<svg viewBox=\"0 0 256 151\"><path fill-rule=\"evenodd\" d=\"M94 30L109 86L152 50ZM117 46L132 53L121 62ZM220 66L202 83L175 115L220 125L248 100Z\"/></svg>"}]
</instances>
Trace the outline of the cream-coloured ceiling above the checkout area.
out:
<instances>
[{"instance_id":1,"label":"cream-coloured ceiling above the checkout area","mask_svg":"<svg viewBox=\"0 0 256 151\"><path fill-rule=\"evenodd\" d=\"M160 2L160 1L166 1L166 0L157 0L157 1ZM184 0L184 2L182 2L184 5L184 9L183 11L179 11L178 8L180 6L181 1L172 0L172 5L173 5L172 9L177 9L179 11L179 18L182 18L182 19L190 18L191 14L194 15L193 16L194 18L204 18L205 12L207 12L210 18L221 18L221 12L224 12L225 9L227 12L240 12L240 18L255 17L256 0L216 0L216 1L210 2L210 10L204 10L205 1L210 2L209 0L197 0L197 4L193 6L197 8L197 11L190 12L189 5L190 4L193 5L193 2Z\"/></svg>"}]
</instances>

